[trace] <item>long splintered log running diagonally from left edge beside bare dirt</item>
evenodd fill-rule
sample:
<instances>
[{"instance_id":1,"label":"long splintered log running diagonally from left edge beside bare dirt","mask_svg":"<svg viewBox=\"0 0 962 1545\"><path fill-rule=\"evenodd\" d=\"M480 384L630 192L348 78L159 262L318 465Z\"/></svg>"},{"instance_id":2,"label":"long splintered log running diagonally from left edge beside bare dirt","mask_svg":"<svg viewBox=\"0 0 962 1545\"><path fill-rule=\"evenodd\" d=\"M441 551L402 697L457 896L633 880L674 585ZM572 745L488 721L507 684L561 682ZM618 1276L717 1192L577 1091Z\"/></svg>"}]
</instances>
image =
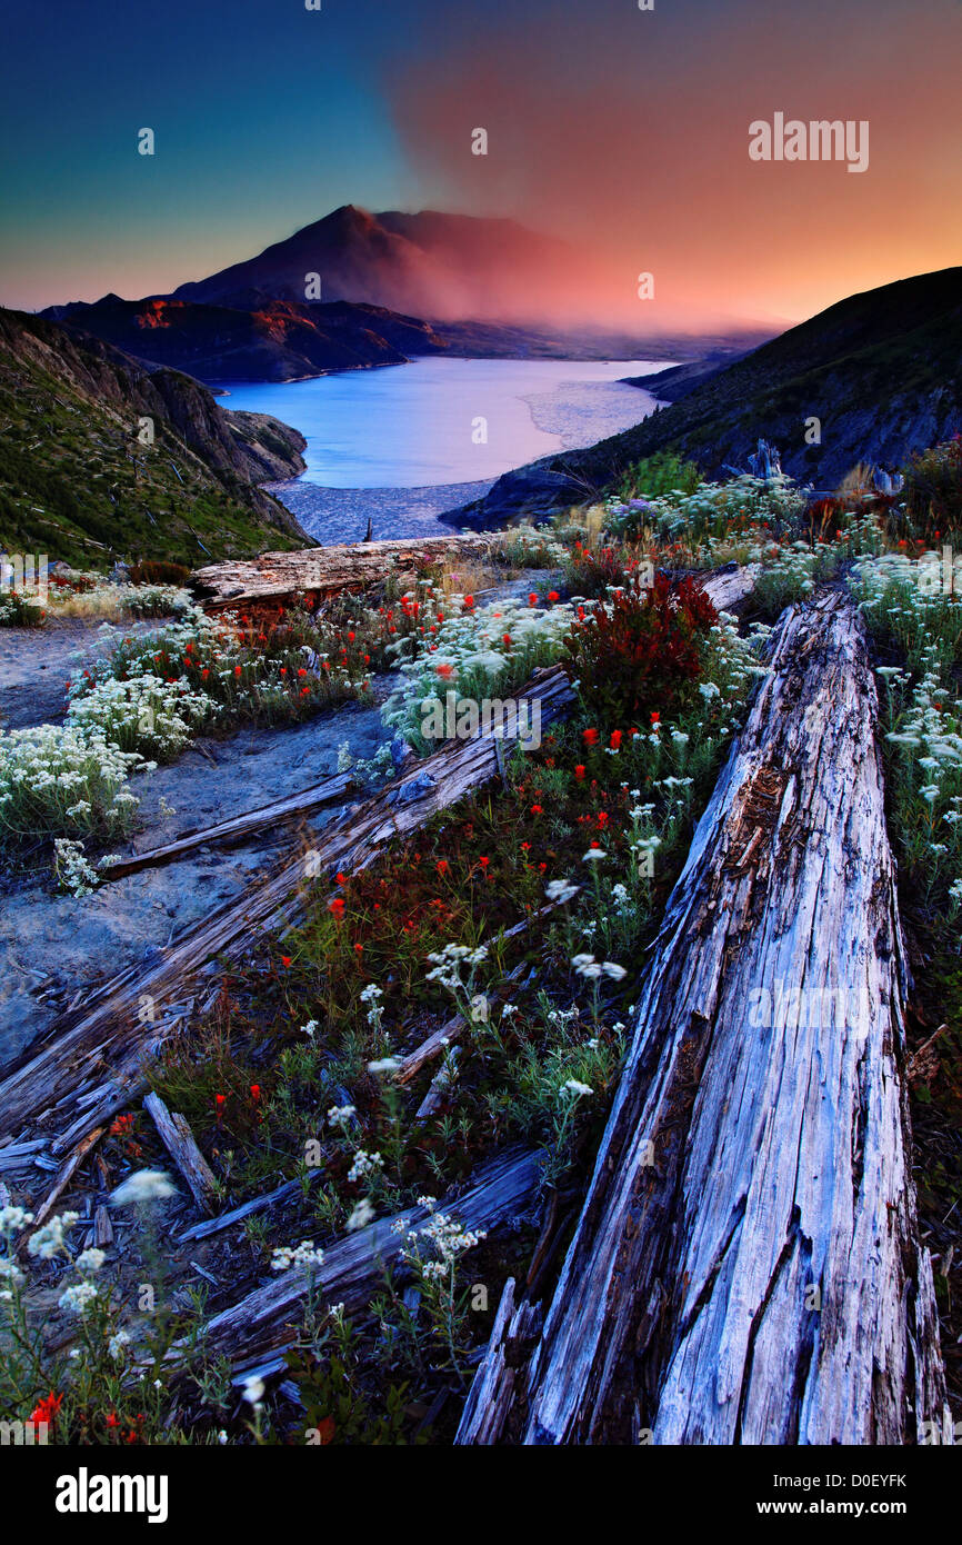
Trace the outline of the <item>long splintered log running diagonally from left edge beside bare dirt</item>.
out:
<instances>
[{"instance_id":1,"label":"long splintered log running diagonally from left edge beside bare dirt","mask_svg":"<svg viewBox=\"0 0 962 1545\"><path fill-rule=\"evenodd\" d=\"M540 700L542 726L564 714L571 688L561 669L542 671L517 694ZM523 718L523 715L519 715ZM43 1046L28 1054L0 1088L0 1142L20 1139L26 1123L62 1129L63 1151L91 1126L124 1109L147 1085L145 1061L179 1024L187 984L218 963L250 953L252 939L289 925L303 908L304 881L354 873L394 837L422 827L439 810L496 774L491 735L449 742L386 789L332 820L309 853L287 857L241 901L187 930L148 967L130 969L97 993L93 1006L60 1015ZM505 746L511 749L511 737Z\"/></svg>"}]
</instances>

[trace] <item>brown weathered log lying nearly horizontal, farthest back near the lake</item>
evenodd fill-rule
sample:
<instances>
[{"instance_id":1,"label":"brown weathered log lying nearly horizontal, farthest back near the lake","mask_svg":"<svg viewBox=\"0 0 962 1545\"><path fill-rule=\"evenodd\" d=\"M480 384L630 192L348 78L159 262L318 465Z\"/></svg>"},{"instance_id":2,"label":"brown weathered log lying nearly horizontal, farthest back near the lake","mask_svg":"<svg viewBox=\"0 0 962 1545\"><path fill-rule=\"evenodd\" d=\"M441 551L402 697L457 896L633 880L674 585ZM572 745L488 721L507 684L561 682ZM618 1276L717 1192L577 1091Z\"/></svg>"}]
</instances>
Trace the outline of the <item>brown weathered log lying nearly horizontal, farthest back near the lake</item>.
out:
<instances>
[{"instance_id":1,"label":"brown weathered log lying nearly horizontal, farthest back near the lake","mask_svg":"<svg viewBox=\"0 0 962 1545\"><path fill-rule=\"evenodd\" d=\"M307 547L296 553L261 553L207 564L190 576L195 595L208 610L269 603L279 606L293 595L318 599L341 590L363 590L383 584L389 569L414 575L422 561L445 559L483 562L491 536L418 536L403 541L354 542L337 547Z\"/></svg>"}]
</instances>

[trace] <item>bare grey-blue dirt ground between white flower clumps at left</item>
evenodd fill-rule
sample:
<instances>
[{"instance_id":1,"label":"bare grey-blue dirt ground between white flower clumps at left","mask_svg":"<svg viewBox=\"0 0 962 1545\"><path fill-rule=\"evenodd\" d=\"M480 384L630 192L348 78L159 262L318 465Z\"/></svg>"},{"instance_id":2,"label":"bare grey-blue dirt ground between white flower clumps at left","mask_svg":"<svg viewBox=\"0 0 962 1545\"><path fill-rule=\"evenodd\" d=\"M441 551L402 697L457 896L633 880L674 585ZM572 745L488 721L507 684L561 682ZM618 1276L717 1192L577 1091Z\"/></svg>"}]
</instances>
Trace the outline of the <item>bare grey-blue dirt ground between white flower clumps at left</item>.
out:
<instances>
[{"instance_id":1,"label":"bare grey-blue dirt ground between white flower clumps at left","mask_svg":"<svg viewBox=\"0 0 962 1545\"><path fill-rule=\"evenodd\" d=\"M547 590L559 579L536 572L485 592L483 599L522 596L533 587ZM158 626L141 623L137 630ZM74 652L80 647L96 655L99 643L99 624L86 621L2 632L3 728L62 718L63 683L71 666L76 669ZM130 789L141 799L139 830L111 851L142 853L310 788L337 772L343 742L355 760L372 757L378 745L391 740L380 703L398 681L394 674L375 677L374 708L349 703L304 725L201 739L170 766L133 777ZM90 896L59 895L46 857L37 859L28 878L6 878L0 885L0 1069L20 1057L79 993L128 966L148 964L151 952L241 895L284 845L309 845L310 833L321 831L351 802L318 811L298 828L273 827L236 848L201 848L178 862L105 884Z\"/></svg>"}]
</instances>

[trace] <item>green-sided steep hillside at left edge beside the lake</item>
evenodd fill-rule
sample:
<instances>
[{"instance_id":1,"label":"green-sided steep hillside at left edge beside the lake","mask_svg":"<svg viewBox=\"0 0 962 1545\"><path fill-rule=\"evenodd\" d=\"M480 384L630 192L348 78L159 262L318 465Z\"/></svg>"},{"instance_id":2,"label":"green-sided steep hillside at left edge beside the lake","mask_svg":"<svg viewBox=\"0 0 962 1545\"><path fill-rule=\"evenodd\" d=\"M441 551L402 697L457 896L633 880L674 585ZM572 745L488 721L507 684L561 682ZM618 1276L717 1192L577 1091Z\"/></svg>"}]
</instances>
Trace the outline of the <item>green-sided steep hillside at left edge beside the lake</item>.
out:
<instances>
[{"instance_id":1,"label":"green-sided steep hillside at left edge beside the lake","mask_svg":"<svg viewBox=\"0 0 962 1545\"><path fill-rule=\"evenodd\" d=\"M142 445L139 420L153 420ZM0 309L0 545L82 567L312 545L258 487L303 471L303 437L198 382Z\"/></svg>"}]
</instances>

